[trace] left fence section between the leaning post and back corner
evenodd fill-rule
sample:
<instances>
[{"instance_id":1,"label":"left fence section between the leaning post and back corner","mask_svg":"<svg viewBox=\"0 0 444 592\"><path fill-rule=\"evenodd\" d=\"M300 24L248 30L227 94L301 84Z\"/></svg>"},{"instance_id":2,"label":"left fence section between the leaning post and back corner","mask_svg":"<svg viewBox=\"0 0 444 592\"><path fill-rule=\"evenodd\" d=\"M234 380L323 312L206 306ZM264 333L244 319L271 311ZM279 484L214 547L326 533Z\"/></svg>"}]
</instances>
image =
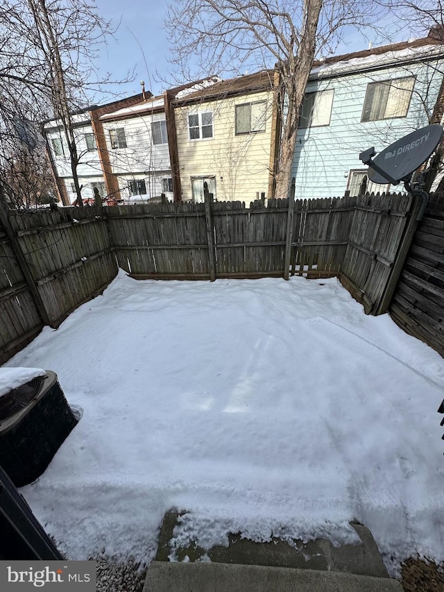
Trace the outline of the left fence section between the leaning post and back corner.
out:
<instances>
[{"instance_id":1,"label":"left fence section between the leaning post and back corner","mask_svg":"<svg viewBox=\"0 0 444 592\"><path fill-rule=\"evenodd\" d=\"M8 214L53 327L117 273L103 211L89 207L11 210Z\"/></svg>"}]
</instances>

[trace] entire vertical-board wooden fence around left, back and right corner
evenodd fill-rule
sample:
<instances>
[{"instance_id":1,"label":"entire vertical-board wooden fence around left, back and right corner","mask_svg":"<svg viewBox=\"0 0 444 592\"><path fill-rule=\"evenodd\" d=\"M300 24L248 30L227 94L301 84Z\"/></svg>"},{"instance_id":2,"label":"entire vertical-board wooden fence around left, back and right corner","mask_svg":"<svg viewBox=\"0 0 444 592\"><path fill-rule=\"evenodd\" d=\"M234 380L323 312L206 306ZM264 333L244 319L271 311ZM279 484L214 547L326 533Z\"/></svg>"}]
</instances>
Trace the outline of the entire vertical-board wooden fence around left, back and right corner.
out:
<instances>
[{"instance_id":1,"label":"entire vertical-board wooden fence around left, back and right corner","mask_svg":"<svg viewBox=\"0 0 444 592\"><path fill-rule=\"evenodd\" d=\"M157 279L339 276L367 312L384 312L412 204L408 196L364 196L246 208L207 196L205 203L0 210L0 362L103 291L118 267Z\"/></svg>"}]
</instances>

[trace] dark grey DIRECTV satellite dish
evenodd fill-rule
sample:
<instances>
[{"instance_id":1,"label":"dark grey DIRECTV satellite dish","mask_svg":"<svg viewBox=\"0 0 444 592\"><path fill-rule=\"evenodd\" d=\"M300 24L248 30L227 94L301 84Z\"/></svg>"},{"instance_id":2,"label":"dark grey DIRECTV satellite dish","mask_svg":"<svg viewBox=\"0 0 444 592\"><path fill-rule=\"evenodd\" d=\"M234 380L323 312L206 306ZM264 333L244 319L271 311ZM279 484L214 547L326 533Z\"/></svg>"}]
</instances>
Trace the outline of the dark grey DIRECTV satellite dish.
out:
<instances>
[{"instance_id":1,"label":"dark grey DIRECTV satellite dish","mask_svg":"<svg viewBox=\"0 0 444 592\"><path fill-rule=\"evenodd\" d=\"M361 152L359 158L368 164L367 175L373 183L398 185L402 180L409 180L413 171L432 155L442 136L441 126L425 126L393 142L374 160L374 148Z\"/></svg>"}]
</instances>

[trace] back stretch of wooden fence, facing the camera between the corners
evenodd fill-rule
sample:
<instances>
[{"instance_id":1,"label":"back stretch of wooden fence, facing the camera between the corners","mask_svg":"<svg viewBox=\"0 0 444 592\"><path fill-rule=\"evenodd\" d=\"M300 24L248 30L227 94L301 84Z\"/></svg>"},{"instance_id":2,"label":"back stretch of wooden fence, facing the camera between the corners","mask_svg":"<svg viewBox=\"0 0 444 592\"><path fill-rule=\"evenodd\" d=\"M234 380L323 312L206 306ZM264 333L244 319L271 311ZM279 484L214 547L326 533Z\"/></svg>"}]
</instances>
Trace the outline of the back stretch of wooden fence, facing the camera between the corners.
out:
<instances>
[{"instance_id":1,"label":"back stretch of wooden fence, facing the camera between the corners","mask_svg":"<svg viewBox=\"0 0 444 592\"><path fill-rule=\"evenodd\" d=\"M355 198L107 208L119 267L135 278L309 278L339 273Z\"/></svg>"}]
</instances>

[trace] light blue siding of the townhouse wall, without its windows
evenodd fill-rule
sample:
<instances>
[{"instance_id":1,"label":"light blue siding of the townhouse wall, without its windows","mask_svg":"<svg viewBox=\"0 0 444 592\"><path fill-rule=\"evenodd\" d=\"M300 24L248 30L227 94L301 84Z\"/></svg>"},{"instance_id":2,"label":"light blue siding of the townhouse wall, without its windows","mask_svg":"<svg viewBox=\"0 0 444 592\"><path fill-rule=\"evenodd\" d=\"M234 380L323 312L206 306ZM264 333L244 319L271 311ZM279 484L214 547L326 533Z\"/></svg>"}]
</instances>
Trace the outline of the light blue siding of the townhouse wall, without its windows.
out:
<instances>
[{"instance_id":1,"label":"light blue siding of the townhouse wall, without its windows","mask_svg":"<svg viewBox=\"0 0 444 592\"><path fill-rule=\"evenodd\" d=\"M365 170L359 153L370 146L377 152L403 135L429 124L443 79L443 62L377 67L373 71L311 79L306 92L333 90L330 124L298 130L291 176L296 198L343 196L350 170ZM362 122L368 83L414 76L407 117ZM398 185L396 189L402 189Z\"/></svg>"}]
</instances>

